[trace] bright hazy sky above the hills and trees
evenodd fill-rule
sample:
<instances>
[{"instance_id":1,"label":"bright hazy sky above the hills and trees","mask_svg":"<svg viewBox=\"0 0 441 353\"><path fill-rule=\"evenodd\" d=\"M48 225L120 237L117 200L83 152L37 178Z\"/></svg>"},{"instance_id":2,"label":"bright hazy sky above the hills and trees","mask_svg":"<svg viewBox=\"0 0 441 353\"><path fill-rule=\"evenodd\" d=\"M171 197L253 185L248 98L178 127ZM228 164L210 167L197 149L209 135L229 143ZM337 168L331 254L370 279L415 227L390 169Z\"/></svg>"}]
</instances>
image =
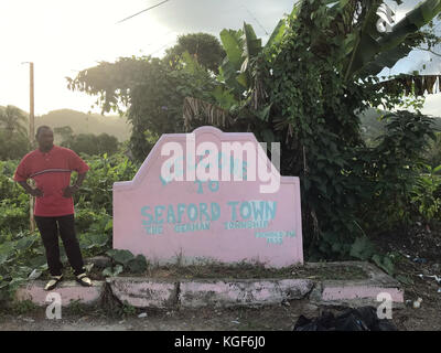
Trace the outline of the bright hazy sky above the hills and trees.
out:
<instances>
[{"instance_id":1,"label":"bright hazy sky above the hills and trees","mask_svg":"<svg viewBox=\"0 0 441 353\"><path fill-rule=\"evenodd\" d=\"M99 62L122 56L161 57L178 35L206 32L218 36L227 29L239 29L244 21L256 34L268 39L293 0L1 0L0 1L0 105L14 105L29 111L29 62L34 63L34 109L43 115L55 109L99 113L96 97L67 89L74 78ZM386 1L397 20L418 0L400 7ZM415 52L392 69L381 74L410 73L428 63L428 74L441 74L441 60ZM427 98L424 114L440 115L441 94Z\"/></svg>"}]
</instances>

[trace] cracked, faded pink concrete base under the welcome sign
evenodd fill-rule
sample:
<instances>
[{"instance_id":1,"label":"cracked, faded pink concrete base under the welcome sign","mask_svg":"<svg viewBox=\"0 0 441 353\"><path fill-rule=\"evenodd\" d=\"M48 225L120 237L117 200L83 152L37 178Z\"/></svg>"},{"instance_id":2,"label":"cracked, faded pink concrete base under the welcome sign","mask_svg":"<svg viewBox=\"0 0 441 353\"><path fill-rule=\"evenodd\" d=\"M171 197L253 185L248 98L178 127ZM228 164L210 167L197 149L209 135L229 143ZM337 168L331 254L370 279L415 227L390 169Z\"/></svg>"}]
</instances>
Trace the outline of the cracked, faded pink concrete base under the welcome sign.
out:
<instances>
[{"instance_id":1,"label":"cracked, faded pink concrete base under the welcome sign","mask_svg":"<svg viewBox=\"0 0 441 353\"><path fill-rule=\"evenodd\" d=\"M308 298L316 306L378 306L390 296L394 308L404 307L400 284L368 263L320 263L304 267L332 266L359 267L367 274L361 280L316 280L302 278L283 279L194 279L161 280L146 277L112 277L94 281L94 287L80 287L76 282L62 282L52 292L62 296L63 306L72 300L92 304L97 302L107 285L121 302L136 308L201 308L201 307L256 307L279 304L287 300ZM18 300L32 300L47 306L43 281L32 281L17 292ZM381 298L377 296L383 293ZM385 297L386 296L386 297ZM51 301L49 301L51 302Z\"/></svg>"}]
</instances>

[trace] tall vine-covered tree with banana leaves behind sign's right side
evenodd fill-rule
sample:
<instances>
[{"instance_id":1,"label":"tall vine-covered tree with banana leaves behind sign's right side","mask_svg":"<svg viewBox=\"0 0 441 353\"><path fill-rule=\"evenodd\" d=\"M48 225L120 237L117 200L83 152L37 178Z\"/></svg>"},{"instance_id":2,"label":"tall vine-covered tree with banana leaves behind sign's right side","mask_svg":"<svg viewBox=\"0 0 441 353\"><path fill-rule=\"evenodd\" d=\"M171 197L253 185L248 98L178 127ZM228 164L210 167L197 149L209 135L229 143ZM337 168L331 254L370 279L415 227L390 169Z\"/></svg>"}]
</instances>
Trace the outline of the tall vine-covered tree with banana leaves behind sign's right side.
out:
<instances>
[{"instance_id":1,"label":"tall vine-covered tree with banana leaves behind sign's right side","mask_svg":"<svg viewBox=\"0 0 441 353\"><path fill-rule=\"evenodd\" d=\"M298 2L271 35L278 41L265 49L247 25L224 32L229 63L220 71L222 94L212 107L187 98L195 108L185 118L191 130L213 121L202 110L224 114L220 128L243 131L246 122L261 140L280 141L282 174L301 178L310 255L335 257L359 254L354 239L363 228L385 229L408 215L409 185L433 137L430 121L419 114L390 116L383 141L368 148L358 114L369 106L391 109L405 94L419 94L417 77L380 83L376 75L426 41L419 29L441 1L424 1L386 33L376 28L381 1L327 2ZM232 100L238 103L225 105Z\"/></svg>"}]
</instances>

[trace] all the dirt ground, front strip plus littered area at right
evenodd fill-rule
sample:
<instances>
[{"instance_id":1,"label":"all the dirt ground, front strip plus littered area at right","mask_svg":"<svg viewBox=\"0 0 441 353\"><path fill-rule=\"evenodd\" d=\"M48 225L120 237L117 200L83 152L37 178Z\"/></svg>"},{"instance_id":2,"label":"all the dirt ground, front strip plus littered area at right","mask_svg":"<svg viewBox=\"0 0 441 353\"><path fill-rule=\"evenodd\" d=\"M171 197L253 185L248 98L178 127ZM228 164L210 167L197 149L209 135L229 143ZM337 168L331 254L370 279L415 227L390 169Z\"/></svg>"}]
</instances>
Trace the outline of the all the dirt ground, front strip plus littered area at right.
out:
<instances>
[{"instance_id":1,"label":"all the dirt ground, front strip plus littered area at right","mask_svg":"<svg viewBox=\"0 0 441 353\"><path fill-rule=\"evenodd\" d=\"M441 331L441 234L424 226L374 238L377 247L395 256L396 277L405 289L406 307L394 309L399 331ZM419 308L413 308L418 299ZM108 309L109 310L109 309ZM298 318L316 318L324 308L294 300L260 308L141 310L75 306L62 319L46 319L45 308L0 313L0 331L292 331Z\"/></svg>"}]
</instances>

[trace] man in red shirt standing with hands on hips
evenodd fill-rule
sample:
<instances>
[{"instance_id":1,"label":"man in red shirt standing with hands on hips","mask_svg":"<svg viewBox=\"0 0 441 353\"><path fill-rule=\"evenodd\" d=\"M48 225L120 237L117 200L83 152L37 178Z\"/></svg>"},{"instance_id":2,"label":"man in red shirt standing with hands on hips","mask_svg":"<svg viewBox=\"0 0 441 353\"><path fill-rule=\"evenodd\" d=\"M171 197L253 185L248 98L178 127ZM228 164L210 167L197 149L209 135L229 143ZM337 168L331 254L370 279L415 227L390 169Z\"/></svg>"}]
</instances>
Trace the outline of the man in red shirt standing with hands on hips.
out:
<instances>
[{"instance_id":1,"label":"man in red shirt standing with hands on hips","mask_svg":"<svg viewBox=\"0 0 441 353\"><path fill-rule=\"evenodd\" d=\"M74 201L72 195L79 190L89 167L72 150L54 146L54 132L47 126L36 130L39 149L29 152L15 170L14 181L35 196L34 218L46 250L51 280L44 287L52 290L63 279L63 264L60 260L58 231L68 261L76 280L86 287L92 286L84 269L83 256L75 234ZM78 176L71 185L71 173ZM36 188L28 184L35 181Z\"/></svg>"}]
</instances>

